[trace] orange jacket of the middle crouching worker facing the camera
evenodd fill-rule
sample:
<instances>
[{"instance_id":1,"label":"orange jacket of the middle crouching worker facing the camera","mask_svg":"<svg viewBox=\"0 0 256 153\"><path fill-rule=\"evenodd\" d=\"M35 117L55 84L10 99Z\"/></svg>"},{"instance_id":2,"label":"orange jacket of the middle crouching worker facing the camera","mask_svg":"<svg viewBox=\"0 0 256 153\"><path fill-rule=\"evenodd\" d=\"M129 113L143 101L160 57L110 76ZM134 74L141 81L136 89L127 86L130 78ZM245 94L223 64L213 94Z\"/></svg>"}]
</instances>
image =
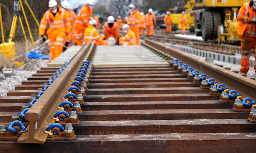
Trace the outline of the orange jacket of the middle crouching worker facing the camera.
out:
<instances>
[{"instance_id":1,"label":"orange jacket of the middle crouching worker facing the camera","mask_svg":"<svg viewBox=\"0 0 256 153\"><path fill-rule=\"evenodd\" d=\"M108 37L111 37L111 36L119 37L120 36L119 26L115 21L111 28L109 27L108 22L105 22L102 28L103 28L103 33L108 34Z\"/></svg>"}]
</instances>

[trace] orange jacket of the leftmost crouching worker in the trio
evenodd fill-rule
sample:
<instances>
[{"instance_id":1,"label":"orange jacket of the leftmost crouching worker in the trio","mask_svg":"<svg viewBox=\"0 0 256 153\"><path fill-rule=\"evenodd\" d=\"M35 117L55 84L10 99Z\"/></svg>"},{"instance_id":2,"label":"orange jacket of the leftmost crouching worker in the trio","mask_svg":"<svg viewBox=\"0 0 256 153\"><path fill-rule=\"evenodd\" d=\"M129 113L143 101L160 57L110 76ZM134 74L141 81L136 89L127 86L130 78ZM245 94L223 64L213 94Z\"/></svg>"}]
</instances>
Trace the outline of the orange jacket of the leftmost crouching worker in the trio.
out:
<instances>
[{"instance_id":1,"label":"orange jacket of the leftmost crouching worker in the trio","mask_svg":"<svg viewBox=\"0 0 256 153\"><path fill-rule=\"evenodd\" d=\"M94 26L91 26L91 25L89 25L84 31L85 43L88 43L90 39L92 40L91 44L97 44L102 41L102 37L100 36L98 30ZM108 41L105 41L105 42L107 43ZM104 45L104 44L102 44L102 45ZM108 44L105 44L105 45L108 45Z\"/></svg>"}]
</instances>

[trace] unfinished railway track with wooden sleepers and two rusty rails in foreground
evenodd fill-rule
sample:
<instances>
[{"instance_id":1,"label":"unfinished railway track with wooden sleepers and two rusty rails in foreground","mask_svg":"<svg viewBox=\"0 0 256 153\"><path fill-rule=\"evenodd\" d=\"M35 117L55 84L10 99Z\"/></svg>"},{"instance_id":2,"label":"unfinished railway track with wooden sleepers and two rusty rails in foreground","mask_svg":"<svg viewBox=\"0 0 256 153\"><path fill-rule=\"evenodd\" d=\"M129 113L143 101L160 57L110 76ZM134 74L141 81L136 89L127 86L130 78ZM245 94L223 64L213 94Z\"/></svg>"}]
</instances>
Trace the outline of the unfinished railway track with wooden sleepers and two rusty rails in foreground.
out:
<instances>
[{"instance_id":1,"label":"unfinished railway track with wooden sleepers and two rusty rails in foreground","mask_svg":"<svg viewBox=\"0 0 256 153\"><path fill-rule=\"evenodd\" d=\"M87 44L62 66L64 69L42 68L7 97L0 97L0 124L4 125L0 139L7 132L12 136L5 137L11 141L0 141L0 148L4 152L251 151L255 123L247 119L255 120L252 114L249 117L254 102L245 98L256 98L255 81L150 39L145 41L129 47ZM193 69L198 70L194 75L188 72ZM59 75L54 78L56 73ZM198 78L200 73L206 75ZM33 106L23 112L25 118L13 115L27 106L38 88L50 82ZM82 88L77 90L71 84ZM70 88L77 97L67 92ZM237 104L235 99L239 99ZM73 107L67 102L62 108L64 101ZM62 109L69 117L63 112L56 115ZM7 130L15 118L29 124L27 132L24 128L22 134ZM50 131L56 119L62 126L72 123L73 130L70 125L62 129L56 124ZM15 125L14 129L21 130Z\"/></svg>"}]
</instances>

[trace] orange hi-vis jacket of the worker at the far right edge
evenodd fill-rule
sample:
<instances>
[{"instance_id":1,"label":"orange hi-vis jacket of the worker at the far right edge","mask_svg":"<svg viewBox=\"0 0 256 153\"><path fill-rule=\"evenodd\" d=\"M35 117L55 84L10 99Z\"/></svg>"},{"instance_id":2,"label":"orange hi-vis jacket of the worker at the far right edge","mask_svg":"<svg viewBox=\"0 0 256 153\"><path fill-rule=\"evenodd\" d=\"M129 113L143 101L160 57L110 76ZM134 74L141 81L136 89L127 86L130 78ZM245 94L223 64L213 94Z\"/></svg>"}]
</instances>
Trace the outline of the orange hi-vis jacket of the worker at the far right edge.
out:
<instances>
[{"instance_id":1,"label":"orange hi-vis jacket of the worker at the far right edge","mask_svg":"<svg viewBox=\"0 0 256 153\"><path fill-rule=\"evenodd\" d=\"M250 2L243 3L238 11L237 19L239 24L237 25L237 34L240 36L253 36L255 37L255 22L252 19L256 17L253 6L250 7Z\"/></svg>"}]
</instances>

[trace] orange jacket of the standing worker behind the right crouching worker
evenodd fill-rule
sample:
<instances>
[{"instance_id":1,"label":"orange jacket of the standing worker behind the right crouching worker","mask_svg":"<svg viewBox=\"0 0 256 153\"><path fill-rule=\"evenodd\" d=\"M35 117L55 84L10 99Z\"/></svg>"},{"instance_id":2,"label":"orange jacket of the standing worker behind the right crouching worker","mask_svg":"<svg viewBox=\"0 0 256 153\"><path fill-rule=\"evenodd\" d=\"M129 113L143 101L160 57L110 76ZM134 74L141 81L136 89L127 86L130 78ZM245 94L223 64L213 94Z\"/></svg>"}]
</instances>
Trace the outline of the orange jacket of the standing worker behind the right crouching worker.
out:
<instances>
[{"instance_id":1,"label":"orange jacket of the standing worker behind the right crouching worker","mask_svg":"<svg viewBox=\"0 0 256 153\"><path fill-rule=\"evenodd\" d=\"M138 29L138 33L139 33L139 25L140 25L140 12L138 11L138 9L134 10L133 14L131 14L128 17L128 22L126 24L129 24L130 29Z\"/></svg>"}]
</instances>

